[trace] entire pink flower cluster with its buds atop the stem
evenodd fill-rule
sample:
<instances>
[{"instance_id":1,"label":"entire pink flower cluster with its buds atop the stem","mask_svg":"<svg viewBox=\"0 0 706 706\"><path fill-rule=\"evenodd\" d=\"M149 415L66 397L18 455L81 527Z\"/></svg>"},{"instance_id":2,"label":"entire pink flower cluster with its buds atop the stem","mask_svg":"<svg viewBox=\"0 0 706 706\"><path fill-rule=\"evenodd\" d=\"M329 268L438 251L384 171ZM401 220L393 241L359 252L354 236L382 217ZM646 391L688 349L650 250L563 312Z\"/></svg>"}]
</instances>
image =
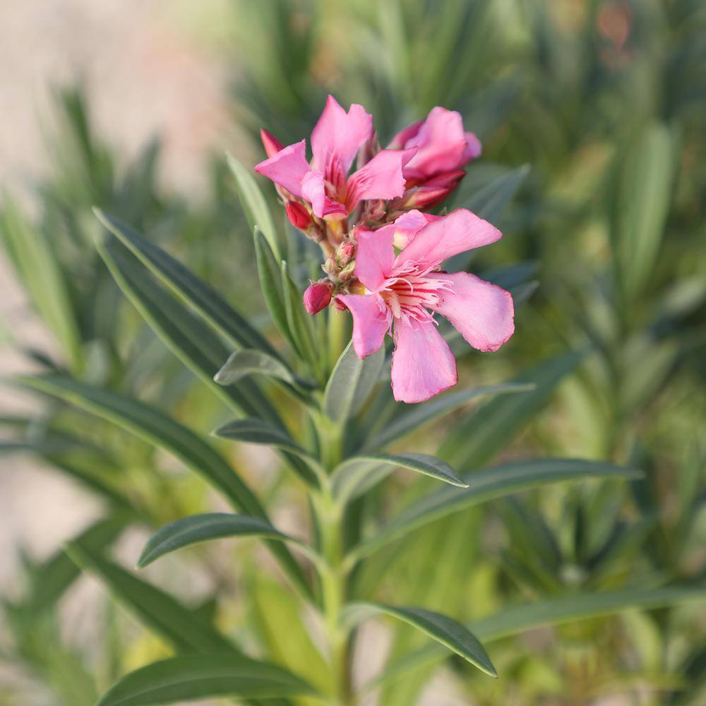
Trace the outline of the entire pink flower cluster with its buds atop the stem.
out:
<instances>
[{"instance_id":1,"label":"entire pink flower cluster with its buds atop the stem","mask_svg":"<svg viewBox=\"0 0 706 706\"><path fill-rule=\"evenodd\" d=\"M306 140L285 147L266 131L262 138L268 159L256 171L275 182L290 222L323 249L326 276L306 289L306 310L315 314L333 301L350 311L360 358L393 335L396 400L421 402L457 382L435 313L481 351L495 351L513 335L509 292L442 270L448 258L501 233L463 208L424 213L457 187L462 167L481 153L460 114L436 107L381 149L372 116L357 104L346 112L329 96L311 133L311 162Z\"/></svg>"}]
</instances>

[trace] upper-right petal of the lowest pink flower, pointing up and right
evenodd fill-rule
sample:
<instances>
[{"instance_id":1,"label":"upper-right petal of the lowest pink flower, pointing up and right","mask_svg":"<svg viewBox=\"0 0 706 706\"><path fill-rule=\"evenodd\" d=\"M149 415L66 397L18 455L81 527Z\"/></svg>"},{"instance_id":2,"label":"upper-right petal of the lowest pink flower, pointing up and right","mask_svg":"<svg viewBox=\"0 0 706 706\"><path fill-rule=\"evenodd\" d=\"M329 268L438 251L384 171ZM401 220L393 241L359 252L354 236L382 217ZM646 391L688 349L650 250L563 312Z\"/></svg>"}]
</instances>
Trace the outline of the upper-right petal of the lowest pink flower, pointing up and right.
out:
<instances>
[{"instance_id":1,"label":"upper-right petal of the lowest pink flower, pointing up and right","mask_svg":"<svg viewBox=\"0 0 706 706\"><path fill-rule=\"evenodd\" d=\"M395 265L406 261L441 263L444 260L501 239L502 233L488 221L465 208L457 208L433 221L397 256Z\"/></svg>"}]
</instances>

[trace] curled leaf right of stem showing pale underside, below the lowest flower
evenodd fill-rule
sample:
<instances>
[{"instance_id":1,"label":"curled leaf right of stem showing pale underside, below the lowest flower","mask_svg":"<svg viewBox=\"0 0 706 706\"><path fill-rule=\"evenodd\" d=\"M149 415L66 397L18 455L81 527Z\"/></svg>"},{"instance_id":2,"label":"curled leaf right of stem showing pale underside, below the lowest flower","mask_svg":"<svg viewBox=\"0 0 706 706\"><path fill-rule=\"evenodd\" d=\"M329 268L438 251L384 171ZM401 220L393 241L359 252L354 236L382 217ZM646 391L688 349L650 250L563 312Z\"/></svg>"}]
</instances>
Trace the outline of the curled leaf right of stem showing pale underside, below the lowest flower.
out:
<instances>
[{"instance_id":1,"label":"curled leaf right of stem showing pale underside, below the lowest flower","mask_svg":"<svg viewBox=\"0 0 706 706\"><path fill-rule=\"evenodd\" d=\"M352 456L338 465L331 477L333 492L340 501L359 496L361 488L365 491L371 487L371 480L377 483L397 467L409 468L460 488L468 487L466 481L458 477L448 463L435 456L424 453L380 453Z\"/></svg>"}]
</instances>

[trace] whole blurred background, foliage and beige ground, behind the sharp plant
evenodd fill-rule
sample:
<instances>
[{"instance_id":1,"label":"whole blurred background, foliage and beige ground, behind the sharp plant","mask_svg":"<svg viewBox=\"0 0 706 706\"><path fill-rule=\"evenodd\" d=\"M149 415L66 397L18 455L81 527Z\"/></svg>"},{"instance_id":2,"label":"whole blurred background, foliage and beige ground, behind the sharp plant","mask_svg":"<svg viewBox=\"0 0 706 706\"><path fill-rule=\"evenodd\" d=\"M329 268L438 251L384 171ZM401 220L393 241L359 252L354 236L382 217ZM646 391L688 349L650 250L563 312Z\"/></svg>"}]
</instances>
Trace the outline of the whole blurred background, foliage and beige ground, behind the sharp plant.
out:
<instances>
[{"instance_id":1,"label":"whole blurred background, foliage and beige ground, behind the sharp plant","mask_svg":"<svg viewBox=\"0 0 706 706\"><path fill-rule=\"evenodd\" d=\"M284 143L308 137L328 92L364 104L383 144L441 104L484 145L453 205L504 233L474 271L514 263L498 281L522 302L510 345L492 359L467 357L462 375L539 388L502 433L459 419L445 457L462 469L508 455L610 459L647 479L562 486L437 522L414 554L381 556L388 590L470 619L546 595L702 585L701 0L31 0L0 7L0 56L4 378L68 369L209 431L217 405L97 257L92 205L148 233L268 328L225 150L251 166L262 158L261 126ZM61 543L98 527L107 544L116 532L95 523L126 498L156 524L213 501L109 425L11 385L1 395L0 704L90 704L164 646L91 580L42 593ZM493 409L489 418L506 412ZM95 448L78 453L77 424ZM283 529L296 527L297 498L281 491L272 459L229 453L261 483ZM419 493L395 482L380 508ZM451 532L459 541L440 551L435 538ZM127 566L144 536L138 527L116 545ZM240 588L282 606L282 621L297 606L277 583L256 585L253 551L240 551L235 578L232 553L205 566L189 554L148 575L162 585L179 575L184 599L204 611L219 590L220 620L262 644L266 611ZM430 573L431 585L420 580ZM366 629L368 674L416 644L405 631ZM370 703L703 704L705 637L702 602L632 609L498 643L499 683L453 663L420 669Z\"/></svg>"}]
</instances>

